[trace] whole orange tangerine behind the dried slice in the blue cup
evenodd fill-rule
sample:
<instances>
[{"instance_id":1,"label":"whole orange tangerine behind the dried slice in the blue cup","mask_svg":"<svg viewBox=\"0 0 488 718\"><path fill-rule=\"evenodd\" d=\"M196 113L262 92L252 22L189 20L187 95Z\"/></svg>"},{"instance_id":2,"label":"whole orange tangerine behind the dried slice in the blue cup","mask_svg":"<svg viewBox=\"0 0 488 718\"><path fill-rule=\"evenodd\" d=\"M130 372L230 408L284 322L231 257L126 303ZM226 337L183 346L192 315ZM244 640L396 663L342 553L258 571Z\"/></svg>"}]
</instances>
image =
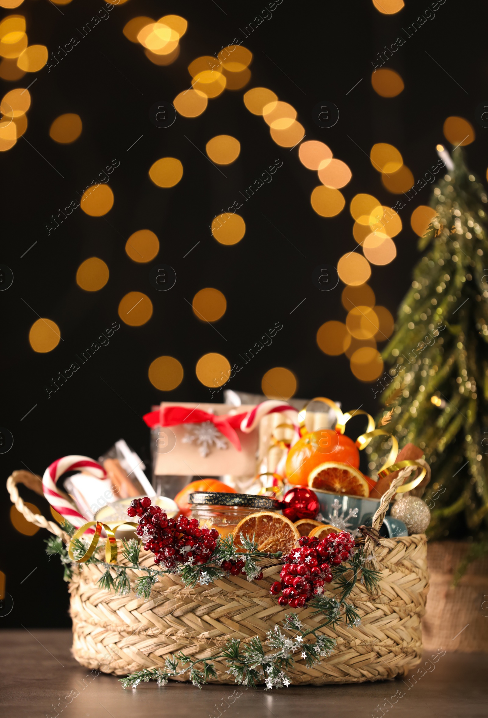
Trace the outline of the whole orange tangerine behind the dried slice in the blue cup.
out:
<instances>
[{"instance_id":1,"label":"whole orange tangerine behind the dried slice in the blue cup","mask_svg":"<svg viewBox=\"0 0 488 718\"><path fill-rule=\"evenodd\" d=\"M337 461L359 469L360 452L355 442L334 429L309 432L294 444L286 457L288 482L308 486L309 474L324 461Z\"/></svg>"}]
</instances>

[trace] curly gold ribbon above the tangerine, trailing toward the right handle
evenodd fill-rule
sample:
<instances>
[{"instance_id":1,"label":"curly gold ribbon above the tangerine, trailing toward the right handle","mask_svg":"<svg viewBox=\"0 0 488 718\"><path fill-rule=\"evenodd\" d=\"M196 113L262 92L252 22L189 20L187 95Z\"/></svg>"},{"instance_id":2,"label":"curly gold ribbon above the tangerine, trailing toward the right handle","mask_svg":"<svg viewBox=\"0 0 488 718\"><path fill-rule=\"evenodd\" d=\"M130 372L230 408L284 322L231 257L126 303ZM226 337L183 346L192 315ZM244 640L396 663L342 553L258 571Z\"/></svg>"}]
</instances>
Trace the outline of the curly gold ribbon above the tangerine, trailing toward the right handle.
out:
<instances>
[{"instance_id":1,"label":"curly gold ribbon above the tangerine, trailing toward the right handle","mask_svg":"<svg viewBox=\"0 0 488 718\"><path fill-rule=\"evenodd\" d=\"M334 409L335 414L337 416L337 423L335 426L335 429L339 432L339 434L344 434L344 429L347 424L347 421L349 419L352 419L353 416L357 416L358 414L362 414L363 416L367 416L367 429L364 434L360 434L359 437L356 439L356 446L360 451L362 449L365 449L367 445L370 443L371 439L373 437L378 436L385 436L390 437L392 440L392 447L390 449L390 454L388 454L388 458L385 461L385 464L383 465L383 469L378 472L379 477L385 477L389 474L393 474L393 472L398 471L400 469L404 469L407 466L416 466L421 469L420 475L416 477L416 479L413 479L412 481L409 481L406 484L403 484L402 486L398 487L397 493L405 493L405 491L410 491L413 488L416 488L418 486L423 477L426 475L426 468L423 467L421 464L414 460L404 460L399 461L395 463L396 457L398 456L398 441L393 436L393 434L389 434L388 432L385 432L384 429L375 429L375 419L372 418L371 414L368 414L367 411L362 411L362 409L356 409L355 411L346 411L345 414L343 414L342 409L340 406L337 406L335 401L332 401L332 399L325 398L324 396L316 396L315 398L311 399L311 401L308 402L304 406L303 409L299 412L299 427L300 427L300 434L301 436L304 436L306 434L306 426L305 426L305 417L306 417L306 411L310 404L314 401L322 401L322 404L327 404L331 409Z\"/></svg>"}]
</instances>

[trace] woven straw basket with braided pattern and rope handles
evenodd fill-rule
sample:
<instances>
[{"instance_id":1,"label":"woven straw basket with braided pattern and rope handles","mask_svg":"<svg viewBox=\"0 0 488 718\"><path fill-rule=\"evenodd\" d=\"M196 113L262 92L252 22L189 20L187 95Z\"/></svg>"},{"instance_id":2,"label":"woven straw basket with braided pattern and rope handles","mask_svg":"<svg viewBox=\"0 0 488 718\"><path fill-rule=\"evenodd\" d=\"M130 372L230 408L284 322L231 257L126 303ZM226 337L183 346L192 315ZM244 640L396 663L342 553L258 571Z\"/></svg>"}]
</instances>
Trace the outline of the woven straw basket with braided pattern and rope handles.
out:
<instances>
[{"instance_id":1,"label":"woven straw basket with braided pattern and rope handles","mask_svg":"<svg viewBox=\"0 0 488 718\"><path fill-rule=\"evenodd\" d=\"M66 541L68 537L60 526L26 507L17 491L18 482L42 493L38 477L14 472L7 481L11 500L27 521ZM397 484L395 479L383 496L373 526L383 521ZM365 549L367 555L372 553L382 572L378 595L370 595L357 582L349 600L361 616L361 625L320 629L336 639L334 653L313 668L307 668L296 656L294 668L288 673L293 684L379 681L404 675L421 661L421 617L428 593L426 536L382 538L378 545L368 538ZM141 551L144 566L153 566L152 558L153 554ZM119 561L124 563L123 559ZM193 658L210 658L229 638L245 641L258 635L263 640L289 611L283 610L268 592L271 582L279 578L279 570L279 566L268 567L259 582L230 576L194 589L184 588L179 577L172 574L159 577L150 599L144 601L133 591L117 596L100 590L97 582L103 569L93 564L78 566L70 582L73 656L83 666L123 676L141 668L164 666L164 658L174 651ZM141 575L144 573L128 569L131 585ZM330 587L326 595L332 596L333 584ZM317 617L311 617L313 609L306 607L296 612L306 628L320 625ZM224 663L215 661L215 669L217 679L210 682L234 682ZM181 676L176 680L186 679Z\"/></svg>"}]
</instances>

